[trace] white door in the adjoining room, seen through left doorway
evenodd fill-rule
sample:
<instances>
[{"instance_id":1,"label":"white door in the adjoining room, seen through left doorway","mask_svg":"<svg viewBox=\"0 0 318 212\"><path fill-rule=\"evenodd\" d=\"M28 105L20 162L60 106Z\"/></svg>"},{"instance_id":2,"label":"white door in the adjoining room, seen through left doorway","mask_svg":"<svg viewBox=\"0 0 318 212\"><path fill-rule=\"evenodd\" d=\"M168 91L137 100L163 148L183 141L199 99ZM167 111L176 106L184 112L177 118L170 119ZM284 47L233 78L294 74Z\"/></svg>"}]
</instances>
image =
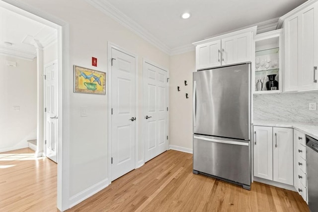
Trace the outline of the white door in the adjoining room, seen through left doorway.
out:
<instances>
[{"instance_id":1,"label":"white door in the adjoining room, seen through left doorway","mask_svg":"<svg viewBox=\"0 0 318 212\"><path fill-rule=\"evenodd\" d=\"M57 65L45 68L46 156L57 162Z\"/></svg>"}]
</instances>

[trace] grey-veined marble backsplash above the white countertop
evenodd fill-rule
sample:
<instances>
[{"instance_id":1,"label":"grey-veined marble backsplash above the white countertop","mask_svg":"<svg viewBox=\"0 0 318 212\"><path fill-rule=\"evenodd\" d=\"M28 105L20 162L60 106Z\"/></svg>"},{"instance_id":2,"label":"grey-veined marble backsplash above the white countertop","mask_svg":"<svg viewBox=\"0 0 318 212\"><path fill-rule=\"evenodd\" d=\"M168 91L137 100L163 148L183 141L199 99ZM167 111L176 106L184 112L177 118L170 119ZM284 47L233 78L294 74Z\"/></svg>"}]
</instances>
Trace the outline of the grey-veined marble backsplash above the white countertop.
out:
<instances>
[{"instance_id":1,"label":"grey-veined marble backsplash above the white countertop","mask_svg":"<svg viewBox=\"0 0 318 212\"><path fill-rule=\"evenodd\" d=\"M318 91L253 95L253 119L313 123L318 125L318 110L308 110L316 102Z\"/></svg>"}]
</instances>

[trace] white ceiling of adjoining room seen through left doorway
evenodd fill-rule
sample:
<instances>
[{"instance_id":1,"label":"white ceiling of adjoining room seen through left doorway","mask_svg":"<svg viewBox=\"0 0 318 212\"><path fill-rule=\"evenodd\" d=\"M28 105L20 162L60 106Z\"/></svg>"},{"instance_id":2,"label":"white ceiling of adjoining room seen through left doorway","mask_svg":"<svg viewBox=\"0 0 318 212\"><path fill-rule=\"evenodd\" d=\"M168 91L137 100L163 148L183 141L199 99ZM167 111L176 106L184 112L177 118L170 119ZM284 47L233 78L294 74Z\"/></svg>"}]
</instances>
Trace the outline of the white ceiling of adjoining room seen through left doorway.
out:
<instances>
[{"instance_id":1,"label":"white ceiling of adjoining room seen through left doorway","mask_svg":"<svg viewBox=\"0 0 318 212\"><path fill-rule=\"evenodd\" d=\"M57 30L0 7L1 55L33 60L36 57L34 39L45 47L57 39ZM12 43L12 46L4 42Z\"/></svg>"}]
</instances>

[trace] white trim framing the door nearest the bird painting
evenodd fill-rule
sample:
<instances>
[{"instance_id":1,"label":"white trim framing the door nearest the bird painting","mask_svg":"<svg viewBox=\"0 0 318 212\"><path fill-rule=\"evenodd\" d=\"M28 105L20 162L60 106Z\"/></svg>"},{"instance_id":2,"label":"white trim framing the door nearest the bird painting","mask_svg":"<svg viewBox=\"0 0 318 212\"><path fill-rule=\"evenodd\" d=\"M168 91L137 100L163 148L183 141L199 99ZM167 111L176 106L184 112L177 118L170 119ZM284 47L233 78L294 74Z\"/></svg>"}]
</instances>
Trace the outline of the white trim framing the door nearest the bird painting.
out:
<instances>
[{"instance_id":1,"label":"white trim framing the door nearest the bird painting","mask_svg":"<svg viewBox=\"0 0 318 212\"><path fill-rule=\"evenodd\" d=\"M127 54L127 55L130 55L130 56L132 56L132 57L134 57L135 58L135 69L136 69L136 71L135 71L135 79L136 79L136 91L135 91L135 93L136 93L136 109L135 109L135 114L136 114L136 121L137 121L137 123L136 123L136 128L135 128L135 169L136 168L138 168L139 166L138 166L138 126L139 126L139 123L140 123L140 121L142 120L141 119L141 117L138 117L138 56L136 55L136 54L133 54L133 53L130 53L130 52L128 52L128 51L126 51L125 49L123 49L123 48L121 48L121 47L119 47L119 46L117 46L116 44L113 44L113 43L111 43L111 42L108 42L108 59L107 59L107 61L108 61L108 71L107 71L107 75L108 75L108 77L107 77L107 80L108 80L108 185L110 185L111 184L111 153L112 153L112 151L111 151L111 149L112 149L112 146L111 146L111 136L112 136L112 134L111 134L111 132L112 132L112 120L111 120L111 99L112 99L112 83L111 83L111 77L112 77L112 75L111 75L111 61L112 61L112 59L111 59L111 50L112 49L116 49L116 50L118 50L118 51L120 51L120 52L123 52L123 53L125 53L125 54Z\"/></svg>"}]
</instances>

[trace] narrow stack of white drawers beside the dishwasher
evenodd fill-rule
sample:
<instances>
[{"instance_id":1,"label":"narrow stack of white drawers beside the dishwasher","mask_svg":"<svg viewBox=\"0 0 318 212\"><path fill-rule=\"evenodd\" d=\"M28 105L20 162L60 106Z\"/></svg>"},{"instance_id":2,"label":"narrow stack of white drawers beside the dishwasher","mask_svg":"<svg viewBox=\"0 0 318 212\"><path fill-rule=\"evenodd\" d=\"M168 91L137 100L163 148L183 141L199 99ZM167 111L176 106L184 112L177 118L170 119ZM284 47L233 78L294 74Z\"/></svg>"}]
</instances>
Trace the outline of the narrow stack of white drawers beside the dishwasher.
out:
<instances>
[{"instance_id":1,"label":"narrow stack of white drawers beside the dishwasher","mask_svg":"<svg viewBox=\"0 0 318 212\"><path fill-rule=\"evenodd\" d=\"M307 201L307 166L306 166L306 137L304 133L294 130L294 163L297 192Z\"/></svg>"}]
</instances>

